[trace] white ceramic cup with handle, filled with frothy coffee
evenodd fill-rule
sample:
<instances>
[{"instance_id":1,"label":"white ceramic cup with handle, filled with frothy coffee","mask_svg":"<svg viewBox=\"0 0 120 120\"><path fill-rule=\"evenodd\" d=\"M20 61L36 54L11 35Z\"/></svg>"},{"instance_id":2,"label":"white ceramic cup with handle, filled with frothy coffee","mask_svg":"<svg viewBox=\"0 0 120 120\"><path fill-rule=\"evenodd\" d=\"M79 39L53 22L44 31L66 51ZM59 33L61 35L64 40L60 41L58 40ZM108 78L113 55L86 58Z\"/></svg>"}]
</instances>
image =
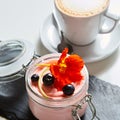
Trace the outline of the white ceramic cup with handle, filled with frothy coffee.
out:
<instances>
[{"instance_id":1,"label":"white ceramic cup with handle, filled with frothy coffee","mask_svg":"<svg viewBox=\"0 0 120 120\"><path fill-rule=\"evenodd\" d=\"M108 15L109 0L54 0L53 17L59 31L76 45L92 43L98 34L110 33L118 19ZM112 20L112 27L104 23Z\"/></svg>"}]
</instances>

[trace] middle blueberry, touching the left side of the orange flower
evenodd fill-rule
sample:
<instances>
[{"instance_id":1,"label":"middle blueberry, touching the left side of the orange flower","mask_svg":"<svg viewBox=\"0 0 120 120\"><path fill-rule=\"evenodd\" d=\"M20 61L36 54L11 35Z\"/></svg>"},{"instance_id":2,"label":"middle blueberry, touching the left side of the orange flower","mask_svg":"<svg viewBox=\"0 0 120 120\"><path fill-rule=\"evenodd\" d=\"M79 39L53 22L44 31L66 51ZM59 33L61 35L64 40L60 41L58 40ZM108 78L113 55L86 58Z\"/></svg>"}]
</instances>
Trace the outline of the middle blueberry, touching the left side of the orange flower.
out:
<instances>
[{"instance_id":1,"label":"middle blueberry, touching the left side of the orange flower","mask_svg":"<svg viewBox=\"0 0 120 120\"><path fill-rule=\"evenodd\" d=\"M45 86L50 86L54 83L54 77L52 74L48 73L43 76L43 84Z\"/></svg>"}]
</instances>

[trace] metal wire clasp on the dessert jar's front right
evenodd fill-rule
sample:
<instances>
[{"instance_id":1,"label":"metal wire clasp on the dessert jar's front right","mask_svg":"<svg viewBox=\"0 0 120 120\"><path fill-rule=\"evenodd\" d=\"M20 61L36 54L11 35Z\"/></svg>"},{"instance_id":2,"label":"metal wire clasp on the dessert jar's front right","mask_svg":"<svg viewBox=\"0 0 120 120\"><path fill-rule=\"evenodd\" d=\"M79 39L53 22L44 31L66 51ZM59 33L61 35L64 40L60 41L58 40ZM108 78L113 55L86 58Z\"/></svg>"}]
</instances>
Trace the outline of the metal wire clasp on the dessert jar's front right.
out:
<instances>
[{"instance_id":1,"label":"metal wire clasp on the dessert jar's front right","mask_svg":"<svg viewBox=\"0 0 120 120\"><path fill-rule=\"evenodd\" d=\"M96 108L92 102L92 95L90 94L87 94L81 101L79 104L77 105L73 105L73 107L75 107L74 109L72 109L72 116L73 116L73 119L74 120L81 120L79 114L78 114L78 110L79 109L82 109L82 105L85 104L85 103L88 103L89 105L89 108L92 112L92 118L91 120L100 120L100 118L96 115Z\"/></svg>"}]
</instances>

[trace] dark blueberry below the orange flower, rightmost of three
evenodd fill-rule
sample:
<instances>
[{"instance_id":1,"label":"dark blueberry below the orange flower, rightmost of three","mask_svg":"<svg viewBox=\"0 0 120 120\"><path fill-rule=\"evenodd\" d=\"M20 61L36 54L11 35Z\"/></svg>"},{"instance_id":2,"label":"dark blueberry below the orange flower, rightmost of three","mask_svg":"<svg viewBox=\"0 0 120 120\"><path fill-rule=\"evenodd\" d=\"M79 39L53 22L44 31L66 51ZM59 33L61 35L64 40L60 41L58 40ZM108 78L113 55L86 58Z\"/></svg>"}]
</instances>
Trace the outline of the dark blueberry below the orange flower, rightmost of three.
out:
<instances>
[{"instance_id":1,"label":"dark blueberry below the orange flower, rightmost of three","mask_svg":"<svg viewBox=\"0 0 120 120\"><path fill-rule=\"evenodd\" d=\"M72 95L74 93L75 88L72 84L67 84L63 87L62 90L65 95Z\"/></svg>"}]
</instances>

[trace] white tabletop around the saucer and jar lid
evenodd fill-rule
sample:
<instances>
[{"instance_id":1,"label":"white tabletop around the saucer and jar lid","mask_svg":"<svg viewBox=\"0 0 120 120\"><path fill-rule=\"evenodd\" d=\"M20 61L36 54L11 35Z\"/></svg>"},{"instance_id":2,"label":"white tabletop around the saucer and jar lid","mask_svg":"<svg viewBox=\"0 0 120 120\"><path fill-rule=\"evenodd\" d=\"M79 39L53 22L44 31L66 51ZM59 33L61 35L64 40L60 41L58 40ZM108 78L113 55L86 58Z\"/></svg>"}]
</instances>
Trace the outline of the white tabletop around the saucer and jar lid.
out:
<instances>
[{"instance_id":1,"label":"white tabletop around the saucer and jar lid","mask_svg":"<svg viewBox=\"0 0 120 120\"><path fill-rule=\"evenodd\" d=\"M120 0L111 0L110 7L119 15ZM53 0L0 0L0 40L28 40L37 54L49 53L40 41L40 29L52 9ZM86 66L91 75L120 86L120 48L110 57Z\"/></svg>"}]
</instances>

